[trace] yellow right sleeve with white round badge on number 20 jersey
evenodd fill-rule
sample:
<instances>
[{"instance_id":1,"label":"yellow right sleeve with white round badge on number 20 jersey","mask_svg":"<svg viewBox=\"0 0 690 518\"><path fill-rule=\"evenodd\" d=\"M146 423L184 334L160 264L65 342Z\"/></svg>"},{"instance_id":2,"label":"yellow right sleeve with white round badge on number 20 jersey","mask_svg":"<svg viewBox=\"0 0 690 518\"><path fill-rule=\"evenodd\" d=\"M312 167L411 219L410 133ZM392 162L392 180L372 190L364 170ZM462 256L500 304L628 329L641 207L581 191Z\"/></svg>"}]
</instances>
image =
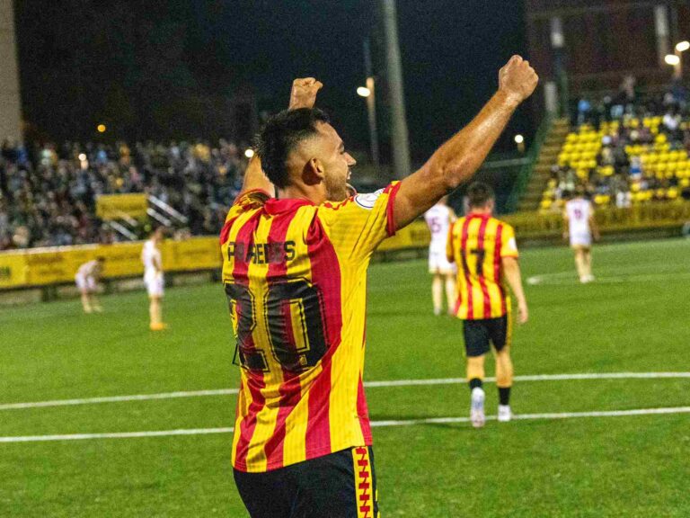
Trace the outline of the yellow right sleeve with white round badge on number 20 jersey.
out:
<instances>
[{"instance_id":1,"label":"yellow right sleeve with white round badge on number 20 jersey","mask_svg":"<svg viewBox=\"0 0 690 518\"><path fill-rule=\"evenodd\" d=\"M341 257L365 258L386 238L394 236L395 195L399 182L339 203L326 202L317 219Z\"/></svg>"}]
</instances>

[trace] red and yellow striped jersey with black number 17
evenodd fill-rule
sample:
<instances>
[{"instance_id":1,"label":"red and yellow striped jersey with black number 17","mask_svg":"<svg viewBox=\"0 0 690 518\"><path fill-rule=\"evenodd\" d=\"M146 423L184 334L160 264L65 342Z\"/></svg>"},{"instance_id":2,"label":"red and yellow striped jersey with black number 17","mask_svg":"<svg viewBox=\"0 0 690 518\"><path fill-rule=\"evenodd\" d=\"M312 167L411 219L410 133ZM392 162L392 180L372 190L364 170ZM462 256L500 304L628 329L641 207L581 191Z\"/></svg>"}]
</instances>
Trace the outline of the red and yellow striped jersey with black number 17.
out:
<instances>
[{"instance_id":1,"label":"red and yellow striped jersey with black number 17","mask_svg":"<svg viewBox=\"0 0 690 518\"><path fill-rule=\"evenodd\" d=\"M500 260L517 257L513 228L490 214L470 213L450 228L446 254L457 264L456 317L503 317L510 299Z\"/></svg>"}]
</instances>

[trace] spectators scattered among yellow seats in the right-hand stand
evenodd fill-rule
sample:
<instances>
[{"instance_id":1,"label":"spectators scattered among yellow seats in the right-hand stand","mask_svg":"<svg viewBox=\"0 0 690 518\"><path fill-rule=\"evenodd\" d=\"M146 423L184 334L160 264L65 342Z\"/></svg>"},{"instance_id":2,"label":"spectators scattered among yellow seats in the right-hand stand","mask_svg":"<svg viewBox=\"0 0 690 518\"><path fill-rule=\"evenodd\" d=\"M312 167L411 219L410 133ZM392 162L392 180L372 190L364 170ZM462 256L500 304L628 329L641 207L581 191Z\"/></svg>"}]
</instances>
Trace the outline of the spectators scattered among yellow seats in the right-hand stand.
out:
<instances>
[{"instance_id":1,"label":"spectators scattered among yellow seats in the right-hand stand","mask_svg":"<svg viewBox=\"0 0 690 518\"><path fill-rule=\"evenodd\" d=\"M640 94L632 76L615 95L580 98L542 210L560 210L563 195L578 188L598 205L690 200L688 101L680 82L665 92Z\"/></svg>"}]
</instances>

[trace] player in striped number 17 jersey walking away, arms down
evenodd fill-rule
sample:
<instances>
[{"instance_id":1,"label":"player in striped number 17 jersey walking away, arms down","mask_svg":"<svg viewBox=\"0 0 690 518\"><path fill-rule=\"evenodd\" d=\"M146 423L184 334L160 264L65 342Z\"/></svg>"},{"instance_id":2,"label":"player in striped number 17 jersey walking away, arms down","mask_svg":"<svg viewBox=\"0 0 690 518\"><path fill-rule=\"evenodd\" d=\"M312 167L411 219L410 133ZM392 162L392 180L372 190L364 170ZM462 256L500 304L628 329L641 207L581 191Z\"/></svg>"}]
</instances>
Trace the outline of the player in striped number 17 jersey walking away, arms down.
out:
<instances>
[{"instance_id":1,"label":"player in striped number 17 jersey walking away, arms down","mask_svg":"<svg viewBox=\"0 0 690 518\"><path fill-rule=\"evenodd\" d=\"M467 356L467 380L471 389L470 419L475 428L484 425L484 357L490 342L496 352L496 384L499 388L500 422L510 421L510 360L512 321L510 298L504 281L517 299L517 322L527 321L527 302L517 264L515 233L509 224L491 217L491 187L475 182L467 189L470 211L450 230L447 256L458 264L456 316L463 320Z\"/></svg>"}]
</instances>

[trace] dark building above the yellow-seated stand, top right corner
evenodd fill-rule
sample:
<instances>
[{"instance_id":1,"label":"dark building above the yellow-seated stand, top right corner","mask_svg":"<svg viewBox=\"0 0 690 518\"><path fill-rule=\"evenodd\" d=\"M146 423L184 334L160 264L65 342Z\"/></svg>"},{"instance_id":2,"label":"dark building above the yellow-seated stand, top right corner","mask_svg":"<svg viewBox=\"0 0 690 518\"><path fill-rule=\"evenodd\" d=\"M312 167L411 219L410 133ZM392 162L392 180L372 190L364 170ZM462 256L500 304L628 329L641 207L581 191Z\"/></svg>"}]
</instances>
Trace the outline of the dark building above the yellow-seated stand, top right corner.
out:
<instances>
[{"instance_id":1,"label":"dark building above the yellow-seated stand, top right corner","mask_svg":"<svg viewBox=\"0 0 690 518\"><path fill-rule=\"evenodd\" d=\"M690 39L686 0L526 0L525 4L530 58L544 83L559 85L561 94L563 87L571 95L613 90L627 75L643 88L668 85L674 67L664 58L674 53L678 41ZM690 51L677 54L685 61L687 77Z\"/></svg>"}]
</instances>

